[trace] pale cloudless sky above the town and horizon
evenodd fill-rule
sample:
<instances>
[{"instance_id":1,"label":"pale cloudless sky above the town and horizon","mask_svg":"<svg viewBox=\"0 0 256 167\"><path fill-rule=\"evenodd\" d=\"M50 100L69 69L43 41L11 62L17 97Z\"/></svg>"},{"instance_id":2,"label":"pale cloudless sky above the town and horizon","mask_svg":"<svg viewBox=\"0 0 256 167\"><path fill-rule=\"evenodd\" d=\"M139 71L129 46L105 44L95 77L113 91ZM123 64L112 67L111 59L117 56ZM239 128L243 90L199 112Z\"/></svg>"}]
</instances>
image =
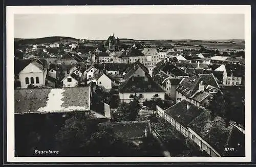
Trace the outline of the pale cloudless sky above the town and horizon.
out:
<instances>
[{"instance_id":1,"label":"pale cloudless sky above the town and horizon","mask_svg":"<svg viewBox=\"0 0 256 167\"><path fill-rule=\"evenodd\" d=\"M15 14L15 38L244 39L243 14Z\"/></svg>"}]
</instances>

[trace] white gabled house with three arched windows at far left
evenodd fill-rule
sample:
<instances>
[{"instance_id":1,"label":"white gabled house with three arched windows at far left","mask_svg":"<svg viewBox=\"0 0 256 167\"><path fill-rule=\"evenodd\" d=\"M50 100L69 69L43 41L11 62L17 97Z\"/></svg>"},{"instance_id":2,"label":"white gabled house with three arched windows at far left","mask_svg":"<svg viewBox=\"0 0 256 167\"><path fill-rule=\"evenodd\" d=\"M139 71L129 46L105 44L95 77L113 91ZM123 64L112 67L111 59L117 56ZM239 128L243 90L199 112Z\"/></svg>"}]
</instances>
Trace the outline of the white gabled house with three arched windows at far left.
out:
<instances>
[{"instance_id":1,"label":"white gabled house with three arched windows at far left","mask_svg":"<svg viewBox=\"0 0 256 167\"><path fill-rule=\"evenodd\" d=\"M45 60L15 60L15 81L18 87L25 89L28 85L45 85L47 62Z\"/></svg>"}]
</instances>

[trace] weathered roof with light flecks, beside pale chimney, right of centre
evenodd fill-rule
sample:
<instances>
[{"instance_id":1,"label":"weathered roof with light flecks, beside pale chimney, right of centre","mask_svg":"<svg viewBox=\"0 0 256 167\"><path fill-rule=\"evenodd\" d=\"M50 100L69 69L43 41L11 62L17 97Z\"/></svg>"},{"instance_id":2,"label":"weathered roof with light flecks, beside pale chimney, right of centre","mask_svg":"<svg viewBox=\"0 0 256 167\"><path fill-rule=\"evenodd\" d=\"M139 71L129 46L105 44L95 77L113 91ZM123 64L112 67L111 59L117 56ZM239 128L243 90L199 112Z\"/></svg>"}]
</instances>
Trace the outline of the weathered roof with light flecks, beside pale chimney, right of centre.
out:
<instances>
[{"instance_id":1,"label":"weathered roof with light flecks, beside pale chimney, right of centre","mask_svg":"<svg viewBox=\"0 0 256 167\"><path fill-rule=\"evenodd\" d=\"M190 98L199 89L199 83L203 81L205 87L211 85L219 89L219 84L217 83L214 75L211 74L198 74L199 76L191 76L184 78L181 84L177 87L176 91L182 93L184 96Z\"/></svg>"}]
</instances>

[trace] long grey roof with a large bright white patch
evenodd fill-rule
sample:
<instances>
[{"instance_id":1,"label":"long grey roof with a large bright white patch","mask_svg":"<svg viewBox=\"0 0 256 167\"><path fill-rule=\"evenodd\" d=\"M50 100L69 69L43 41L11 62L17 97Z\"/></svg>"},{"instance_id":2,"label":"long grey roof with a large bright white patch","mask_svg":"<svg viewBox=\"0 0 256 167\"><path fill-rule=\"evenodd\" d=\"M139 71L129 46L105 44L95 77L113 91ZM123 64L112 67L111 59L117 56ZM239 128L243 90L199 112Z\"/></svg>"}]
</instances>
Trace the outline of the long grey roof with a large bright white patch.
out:
<instances>
[{"instance_id":1,"label":"long grey roof with a large bright white patch","mask_svg":"<svg viewBox=\"0 0 256 167\"><path fill-rule=\"evenodd\" d=\"M90 87L18 89L14 91L14 98L15 113L90 110Z\"/></svg>"}]
</instances>

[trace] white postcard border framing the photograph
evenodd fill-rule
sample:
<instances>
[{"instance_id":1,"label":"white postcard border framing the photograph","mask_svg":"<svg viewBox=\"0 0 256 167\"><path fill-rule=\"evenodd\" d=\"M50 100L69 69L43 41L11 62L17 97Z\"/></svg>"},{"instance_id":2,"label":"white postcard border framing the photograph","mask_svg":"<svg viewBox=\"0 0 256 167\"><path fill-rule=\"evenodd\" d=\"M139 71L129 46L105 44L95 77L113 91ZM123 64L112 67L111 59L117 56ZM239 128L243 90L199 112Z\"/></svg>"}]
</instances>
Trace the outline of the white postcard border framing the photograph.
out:
<instances>
[{"instance_id":1,"label":"white postcard border framing the photograph","mask_svg":"<svg viewBox=\"0 0 256 167\"><path fill-rule=\"evenodd\" d=\"M8 162L250 162L251 161L251 7L249 5L168 6L7 6L7 161ZM14 156L14 14L244 14L245 15L245 157L15 157Z\"/></svg>"}]
</instances>

